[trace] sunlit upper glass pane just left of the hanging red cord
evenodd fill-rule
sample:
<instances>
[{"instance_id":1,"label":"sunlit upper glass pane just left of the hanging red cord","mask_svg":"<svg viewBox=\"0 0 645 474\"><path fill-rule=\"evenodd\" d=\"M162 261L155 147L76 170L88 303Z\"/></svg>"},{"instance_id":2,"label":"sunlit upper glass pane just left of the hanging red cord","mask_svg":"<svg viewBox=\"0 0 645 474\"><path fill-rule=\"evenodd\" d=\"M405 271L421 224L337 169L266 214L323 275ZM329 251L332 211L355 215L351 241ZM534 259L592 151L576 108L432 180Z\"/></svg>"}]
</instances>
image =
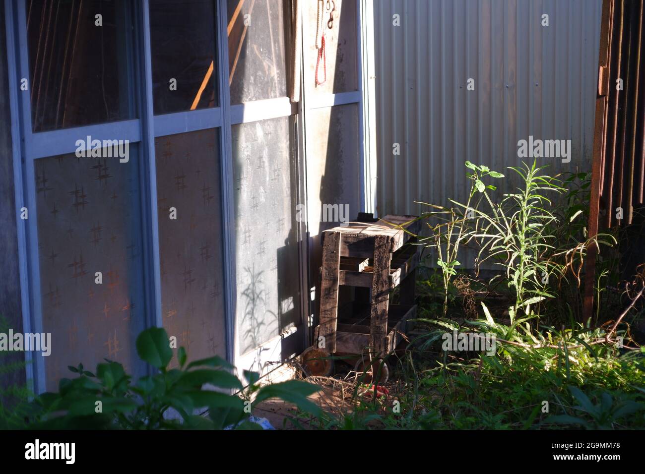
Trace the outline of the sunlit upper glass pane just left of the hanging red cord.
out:
<instances>
[{"instance_id":1,"label":"sunlit upper glass pane just left of the hanging red cord","mask_svg":"<svg viewBox=\"0 0 645 474\"><path fill-rule=\"evenodd\" d=\"M231 103L286 96L283 0L227 0Z\"/></svg>"}]
</instances>

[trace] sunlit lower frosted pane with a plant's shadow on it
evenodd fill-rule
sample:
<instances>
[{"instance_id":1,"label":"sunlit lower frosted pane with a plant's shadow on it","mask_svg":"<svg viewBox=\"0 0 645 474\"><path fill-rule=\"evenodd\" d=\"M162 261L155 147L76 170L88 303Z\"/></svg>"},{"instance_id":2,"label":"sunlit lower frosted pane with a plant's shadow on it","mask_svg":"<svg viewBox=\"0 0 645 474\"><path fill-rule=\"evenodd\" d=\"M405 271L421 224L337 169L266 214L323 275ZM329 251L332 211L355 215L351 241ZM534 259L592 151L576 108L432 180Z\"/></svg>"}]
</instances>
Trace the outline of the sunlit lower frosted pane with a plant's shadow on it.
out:
<instances>
[{"instance_id":1,"label":"sunlit lower frosted pane with a plant's shadow on it","mask_svg":"<svg viewBox=\"0 0 645 474\"><path fill-rule=\"evenodd\" d=\"M241 353L299 323L293 137L290 117L232 127Z\"/></svg>"}]
</instances>

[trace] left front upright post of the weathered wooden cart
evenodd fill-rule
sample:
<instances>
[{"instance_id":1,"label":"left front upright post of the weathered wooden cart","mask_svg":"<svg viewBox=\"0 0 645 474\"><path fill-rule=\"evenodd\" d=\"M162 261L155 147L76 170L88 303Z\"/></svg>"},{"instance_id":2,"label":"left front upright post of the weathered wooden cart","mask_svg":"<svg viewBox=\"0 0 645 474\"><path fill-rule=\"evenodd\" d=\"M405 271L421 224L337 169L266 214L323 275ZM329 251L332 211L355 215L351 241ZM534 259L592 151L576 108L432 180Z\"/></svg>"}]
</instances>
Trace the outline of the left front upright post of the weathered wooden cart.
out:
<instances>
[{"instance_id":1,"label":"left front upright post of the weathered wooden cart","mask_svg":"<svg viewBox=\"0 0 645 474\"><path fill-rule=\"evenodd\" d=\"M321 275L321 310L319 335L325 338L325 348L336 351L336 324L338 321L338 280L341 261L341 234L330 233L323 245Z\"/></svg>"}]
</instances>

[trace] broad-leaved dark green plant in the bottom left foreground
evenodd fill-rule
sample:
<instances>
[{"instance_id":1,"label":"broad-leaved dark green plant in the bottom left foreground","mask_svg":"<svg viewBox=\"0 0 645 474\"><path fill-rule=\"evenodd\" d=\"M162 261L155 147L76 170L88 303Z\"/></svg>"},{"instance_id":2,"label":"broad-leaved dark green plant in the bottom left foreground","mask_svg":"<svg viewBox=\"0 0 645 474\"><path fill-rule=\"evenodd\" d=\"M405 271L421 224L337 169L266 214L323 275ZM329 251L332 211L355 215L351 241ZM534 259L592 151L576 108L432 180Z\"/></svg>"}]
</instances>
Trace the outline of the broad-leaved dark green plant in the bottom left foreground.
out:
<instances>
[{"instance_id":1,"label":"broad-leaved dark green plant in the bottom left foreground","mask_svg":"<svg viewBox=\"0 0 645 474\"><path fill-rule=\"evenodd\" d=\"M318 386L301 380L259 386L259 375L244 371L248 382L233 375L233 367L218 356L187 363L179 348L179 368L168 369L172 350L163 328L150 328L137 337L137 353L157 372L133 382L123 366L106 360L95 373L82 364L71 367L75 379L62 379L57 393L34 400L35 428L121 428L131 430L179 428L259 428L248 418L266 399L293 402L301 410L321 415L307 399ZM238 391L233 395L231 391ZM208 417L202 416L208 410Z\"/></svg>"}]
</instances>

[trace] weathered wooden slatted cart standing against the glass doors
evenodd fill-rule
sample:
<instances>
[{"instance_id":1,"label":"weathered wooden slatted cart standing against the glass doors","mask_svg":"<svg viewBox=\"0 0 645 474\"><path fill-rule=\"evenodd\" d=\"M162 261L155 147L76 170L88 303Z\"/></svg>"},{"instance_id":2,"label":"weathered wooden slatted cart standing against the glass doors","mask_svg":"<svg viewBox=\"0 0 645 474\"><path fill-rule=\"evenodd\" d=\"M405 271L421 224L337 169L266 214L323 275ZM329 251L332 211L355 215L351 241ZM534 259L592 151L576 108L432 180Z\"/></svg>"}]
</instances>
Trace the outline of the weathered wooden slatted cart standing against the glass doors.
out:
<instances>
[{"instance_id":1,"label":"weathered wooden slatted cart standing against the glass doors","mask_svg":"<svg viewBox=\"0 0 645 474\"><path fill-rule=\"evenodd\" d=\"M315 339L323 336L330 353L360 354L370 347L375 354L385 354L408 330L406 321L416 311L415 268L420 249L414 244L420 227L415 219L386 215L377 222L351 222L323 232L320 324ZM370 288L372 301L361 308L361 321L355 315L341 321L339 285ZM402 304L390 305L390 291L399 285ZM352 307L352 311L357 309Z\"/></svg>"}]
</instances>

